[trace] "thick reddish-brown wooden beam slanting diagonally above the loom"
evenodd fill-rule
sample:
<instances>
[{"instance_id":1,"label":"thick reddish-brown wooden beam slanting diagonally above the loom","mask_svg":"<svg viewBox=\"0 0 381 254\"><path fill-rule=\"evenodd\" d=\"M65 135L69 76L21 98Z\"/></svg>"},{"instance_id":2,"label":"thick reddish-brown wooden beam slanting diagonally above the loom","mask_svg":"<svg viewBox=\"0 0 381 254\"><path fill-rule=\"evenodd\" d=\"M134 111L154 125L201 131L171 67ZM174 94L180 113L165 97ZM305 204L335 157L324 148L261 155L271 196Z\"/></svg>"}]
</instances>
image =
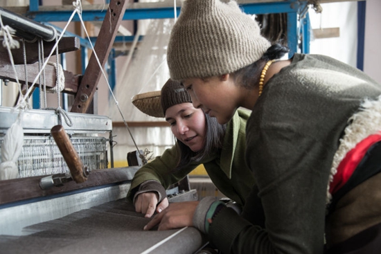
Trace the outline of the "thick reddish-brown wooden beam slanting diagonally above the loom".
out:
<instances>
[{"instance_id":1,"label":"thick reddish-brown wooden beam slanting diagonally above the loom","mask_svg":"<svg viewBox=\"0 0 381 254\"><path fill-rule=\"evenodd\" d=\"M94 46L102 68L107 62L107 57L111 51L116 33L118 33L118 27L123 19L126 6L127 0L112 0L109 3L109 8L107 8L107 14L100 28L96 45ZM94 98L98 81L102 75L102 70L100 69L96 55L94 52L91 54L89 64L78 87L73 106L71 107L71 112L86 113Z\"/></svg>"}]
</instances>

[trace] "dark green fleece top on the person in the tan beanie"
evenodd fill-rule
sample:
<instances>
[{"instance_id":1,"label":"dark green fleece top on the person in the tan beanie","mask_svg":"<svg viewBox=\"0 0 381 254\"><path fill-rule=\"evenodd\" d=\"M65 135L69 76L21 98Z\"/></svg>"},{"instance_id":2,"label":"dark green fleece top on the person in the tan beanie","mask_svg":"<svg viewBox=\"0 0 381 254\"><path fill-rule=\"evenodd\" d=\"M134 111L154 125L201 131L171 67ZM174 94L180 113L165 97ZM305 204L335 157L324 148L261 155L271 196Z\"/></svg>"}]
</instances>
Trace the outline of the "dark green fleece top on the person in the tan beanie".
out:
<instances>
[{"instance_id":1,"label":"dark green fleece top on the person in the tan beanie","mask_svg":"<svg viewBox=\"0 0 381 254\"><path fill-rule=\"evenodd\" d=\"M211 243L223 253L323 253L330 226L328 176L339 138L363 100L380 94L381 85L358 69L323 55L295 54L290 66L269 79L247 122L247 165L258 186L247 203L260 199L265 228L224 208L209 227ZM369 207L381 194L371 182L362 183L369 190L353 198L378 193L364 201ZM342 209L348 209L343 215L354 212L351 206ZM362 218L356 223L370 217L368 210L355 210ZM381 209L372 212L381 215Z\"/></svg>"}]
</instances>

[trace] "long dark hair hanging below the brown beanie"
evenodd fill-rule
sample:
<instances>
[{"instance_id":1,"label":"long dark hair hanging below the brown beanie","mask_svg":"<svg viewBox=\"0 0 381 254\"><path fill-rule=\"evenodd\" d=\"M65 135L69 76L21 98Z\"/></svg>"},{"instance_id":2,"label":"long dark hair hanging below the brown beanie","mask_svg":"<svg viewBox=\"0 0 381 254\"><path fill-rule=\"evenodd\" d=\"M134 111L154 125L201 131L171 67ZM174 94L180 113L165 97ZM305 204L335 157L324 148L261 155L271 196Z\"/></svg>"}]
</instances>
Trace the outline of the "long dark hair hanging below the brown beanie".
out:
<instances>
[{"instance_id":1,"label":"long dark hair hanging below the brown beanie","mask_svg":"<svg viewBox=\"0 0 381 254\"><path fill-rule=\"evenodd\" d=\"M204 116L206 121L204 147L200 151L193 152L187 145L177 140L176 146L180 153L180 158L174 171L181 170L181 168L189 163L198 163L213 153L220 153L227 127L226 125L220 125L216 118L208 114L204 113Z\"/></svg>"}]
</instances>

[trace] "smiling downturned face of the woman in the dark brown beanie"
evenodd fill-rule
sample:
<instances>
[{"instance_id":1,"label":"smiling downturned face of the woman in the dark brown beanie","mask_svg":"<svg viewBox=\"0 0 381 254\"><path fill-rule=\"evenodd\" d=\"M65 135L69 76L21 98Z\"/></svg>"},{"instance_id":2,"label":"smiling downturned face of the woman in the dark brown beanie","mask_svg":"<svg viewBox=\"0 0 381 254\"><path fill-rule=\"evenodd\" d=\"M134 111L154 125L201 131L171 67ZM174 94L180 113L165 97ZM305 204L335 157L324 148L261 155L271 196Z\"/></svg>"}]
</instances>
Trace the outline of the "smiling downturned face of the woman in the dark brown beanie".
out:
<instances>
[{"instance_id":1,"label":"smiling downturned face of the woman in the dark brown beanie","mask_svg":"<svg viewBox=\"0 0 381 254\"><path fill-rule=\"evenodd\" d=\"M166 121L175 137L193 152L204 147L206 120L202 109L195 109L190 102L177 104L166 110Z\"/></svg>"}]
</instances>

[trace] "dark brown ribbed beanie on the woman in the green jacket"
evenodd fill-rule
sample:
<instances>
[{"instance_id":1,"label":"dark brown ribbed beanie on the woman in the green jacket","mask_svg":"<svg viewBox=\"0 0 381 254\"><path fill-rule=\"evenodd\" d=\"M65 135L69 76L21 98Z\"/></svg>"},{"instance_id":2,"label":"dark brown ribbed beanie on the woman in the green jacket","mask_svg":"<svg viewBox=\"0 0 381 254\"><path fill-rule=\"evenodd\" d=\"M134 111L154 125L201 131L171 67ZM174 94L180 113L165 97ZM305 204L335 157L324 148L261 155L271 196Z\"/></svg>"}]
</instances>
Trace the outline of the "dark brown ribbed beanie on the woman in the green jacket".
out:
<instances>
[{"instance_id":1,"label":"dark brown ribbed beanie on the woman in the green jacket","mask_svg":"<svg viewBox=\"0 0 381 254\"><path fill-rule=\"evenodd\" d=\"M166 116L166 111L168 108L185 103L192 103L189 93L184 89L180 82L168 80L166 84L161 88L161 108L163 109L163 114Z\"/></svg>"}]
</instances>

